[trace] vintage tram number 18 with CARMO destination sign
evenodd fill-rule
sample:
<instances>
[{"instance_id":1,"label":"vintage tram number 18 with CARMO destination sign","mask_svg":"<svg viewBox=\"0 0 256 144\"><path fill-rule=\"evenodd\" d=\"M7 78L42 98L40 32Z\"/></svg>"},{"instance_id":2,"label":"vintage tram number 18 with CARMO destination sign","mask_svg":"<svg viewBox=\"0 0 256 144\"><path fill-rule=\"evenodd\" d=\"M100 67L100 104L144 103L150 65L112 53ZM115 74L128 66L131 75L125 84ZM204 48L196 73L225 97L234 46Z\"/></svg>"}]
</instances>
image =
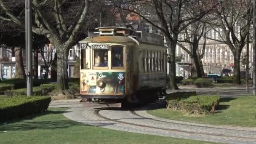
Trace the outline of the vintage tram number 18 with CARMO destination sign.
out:
<instances>
[{"instance_id":1,"label":"vintage tram number 18 with CARMO destination sign","mask_svg":"<svg viewBox=\"0 0 256 144\"><path fill-rule=\"evenodd\" d=\"M80 95L96 101L145 102L166 87L163 36L99 27L80 42Z\"/></svg>"}]
</instances>

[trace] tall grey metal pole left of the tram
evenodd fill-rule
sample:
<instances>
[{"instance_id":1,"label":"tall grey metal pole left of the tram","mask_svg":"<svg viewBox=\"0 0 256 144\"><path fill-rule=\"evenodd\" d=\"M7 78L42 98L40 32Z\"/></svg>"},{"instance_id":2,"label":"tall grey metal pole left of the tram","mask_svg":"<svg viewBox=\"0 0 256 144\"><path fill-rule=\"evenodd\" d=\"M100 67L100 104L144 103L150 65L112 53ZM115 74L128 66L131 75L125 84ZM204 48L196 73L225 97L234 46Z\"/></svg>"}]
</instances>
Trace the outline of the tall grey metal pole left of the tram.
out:
<instances>
[{"instance_id":1,"label":"tall grey metal pole left of the tram","mask_svg":"<svg viewBox=\"0 0 256 144\"><path fill-rule=\"evenodd\" d=\"M27 96L32 96L33 72L32 72L32 10L31 0L25 4L25 31L26 31L26 75L27 75Z\"/></svg>"}]
</instances>

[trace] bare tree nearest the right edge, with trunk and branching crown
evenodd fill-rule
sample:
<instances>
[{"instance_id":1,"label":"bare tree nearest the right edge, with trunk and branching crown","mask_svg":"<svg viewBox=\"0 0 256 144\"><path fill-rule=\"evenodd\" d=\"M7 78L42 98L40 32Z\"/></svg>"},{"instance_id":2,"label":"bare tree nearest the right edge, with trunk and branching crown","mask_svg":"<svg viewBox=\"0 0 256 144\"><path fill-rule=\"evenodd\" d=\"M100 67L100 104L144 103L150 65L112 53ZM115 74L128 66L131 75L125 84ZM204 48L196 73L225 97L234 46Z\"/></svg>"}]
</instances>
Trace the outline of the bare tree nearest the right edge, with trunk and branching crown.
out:
<instances>
[{"instance_id":1,"label":"bare tree nearest the right edge, with trunk and branching crown","mask_svg":"<svg viewBox=\"0 0 256 144\"><path fill-rule=\"evenodd\" d=\"M236 84L241 84L240 57L250 32L248 25L251 24L251 11L251 0L223 0L221 7L209 15L216 17L216 20L210 24L219 34L220 39L207 38L229 46L234 56L234 83Z\"/></svg>"}]
</instances>

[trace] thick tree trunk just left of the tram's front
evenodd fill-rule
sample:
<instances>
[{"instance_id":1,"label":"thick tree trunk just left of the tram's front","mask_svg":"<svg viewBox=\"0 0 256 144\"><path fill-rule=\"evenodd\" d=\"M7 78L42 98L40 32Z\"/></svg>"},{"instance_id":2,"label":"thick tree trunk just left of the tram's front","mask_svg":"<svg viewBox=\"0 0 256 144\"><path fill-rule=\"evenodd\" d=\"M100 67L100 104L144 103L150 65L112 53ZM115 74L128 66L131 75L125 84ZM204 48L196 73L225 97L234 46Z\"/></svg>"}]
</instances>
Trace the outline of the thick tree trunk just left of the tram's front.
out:
<instances>
[{"instance_id":1,"label":"thick tree trunk just left of the tram's front","mask_svg":"<svg viewBox=\"0 0 256 144\"><path fill-rule=\"evenodd\" d=\"M68 72L67 72L67 48L57 48L57 91L63 93L63 90L67 90L68 87Z\"/></svg>"}]
</instances>

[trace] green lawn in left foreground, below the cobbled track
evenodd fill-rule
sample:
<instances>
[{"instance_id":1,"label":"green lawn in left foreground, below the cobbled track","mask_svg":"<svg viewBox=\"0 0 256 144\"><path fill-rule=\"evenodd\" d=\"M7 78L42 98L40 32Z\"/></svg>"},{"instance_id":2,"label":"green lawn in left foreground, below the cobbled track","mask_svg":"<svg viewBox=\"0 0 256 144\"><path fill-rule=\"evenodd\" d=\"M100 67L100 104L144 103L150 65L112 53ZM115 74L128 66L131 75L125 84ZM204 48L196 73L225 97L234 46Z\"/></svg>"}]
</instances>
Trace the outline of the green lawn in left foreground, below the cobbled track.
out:
<instances>
[{"instance_id":1,"label":"green lawn in left foreground, below the cobbled track","mask_svg":"<svg viewBox=\"0 0 256 144\"><path fill-rule=\"evenodd\" d=\"M65 108L0 124L1 144L212 144L88 126L64 117ZM3 132L7 131L7 132Z\"/></svg>"}]
</instances>

